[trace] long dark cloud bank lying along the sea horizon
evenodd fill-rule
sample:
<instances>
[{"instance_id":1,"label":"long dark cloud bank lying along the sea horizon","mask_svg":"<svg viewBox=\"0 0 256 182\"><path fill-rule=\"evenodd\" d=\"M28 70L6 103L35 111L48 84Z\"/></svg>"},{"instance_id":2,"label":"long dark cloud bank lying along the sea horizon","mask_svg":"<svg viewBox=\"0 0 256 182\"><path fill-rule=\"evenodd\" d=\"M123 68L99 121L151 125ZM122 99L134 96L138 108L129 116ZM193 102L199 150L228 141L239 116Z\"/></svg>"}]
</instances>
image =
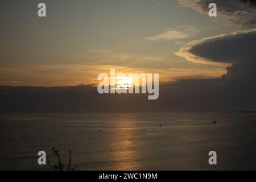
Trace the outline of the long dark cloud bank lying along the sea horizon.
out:
<instances>
[{"instance_id":1,"label":"long dark cloud bank lying along the sea horizon","mask_svg":"<svg viewBox=\"0 0 256 182\"><path fill-rule=\"evenodd\" d=\"M251 82L181 80L160 86L159 100L145 94L103 94L93 86L0 87L1 113L256 111Z\"/></svg>"}]
</instances>

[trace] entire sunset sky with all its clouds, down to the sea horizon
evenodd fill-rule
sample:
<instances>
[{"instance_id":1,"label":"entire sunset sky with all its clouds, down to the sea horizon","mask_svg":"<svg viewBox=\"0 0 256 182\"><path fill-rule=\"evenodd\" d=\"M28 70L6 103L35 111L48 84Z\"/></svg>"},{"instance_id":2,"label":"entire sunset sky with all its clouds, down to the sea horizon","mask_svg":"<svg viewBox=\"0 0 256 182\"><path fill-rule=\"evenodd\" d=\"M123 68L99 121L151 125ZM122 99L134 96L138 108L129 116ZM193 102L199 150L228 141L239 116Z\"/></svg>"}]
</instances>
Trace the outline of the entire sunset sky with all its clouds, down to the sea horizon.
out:
<instances>
[{"instance_id":1,"label":"entire sunset sky with all its clouds, down to the sea horizon","mask_svg":"<svg viewBox=\"0 0 256 182\"><path fill-rule=\"evenodd\" d=\"M0 7L0 113L256 111L256 7L246 0L215 0L216 18L208 0L44 2L46 18L39 1ZM159 73L158 100L98 94L110 68Z\"/></svg>"}]
</instances>

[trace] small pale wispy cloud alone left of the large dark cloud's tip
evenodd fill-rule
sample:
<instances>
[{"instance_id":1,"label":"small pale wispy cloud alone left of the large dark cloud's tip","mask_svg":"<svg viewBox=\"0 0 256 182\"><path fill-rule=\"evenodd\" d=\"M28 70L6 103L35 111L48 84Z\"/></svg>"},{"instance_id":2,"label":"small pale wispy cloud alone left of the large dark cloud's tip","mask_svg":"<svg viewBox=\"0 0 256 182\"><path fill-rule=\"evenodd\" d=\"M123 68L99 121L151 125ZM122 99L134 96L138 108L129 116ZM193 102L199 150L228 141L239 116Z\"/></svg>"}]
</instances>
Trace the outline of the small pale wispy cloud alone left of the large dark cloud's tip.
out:
<instances>
[{"instance_id":1,"label":"small pale wispy cloud alone left of the large dark cloud's tip","mask_svg":"<svg viewBox=\"0 0 256 182\"><path fill-rule=\"evenodd\" d=\"M155 36L148 36L145 39L148 41L158 41L158 40L180 40L190 38L193 34L197 32L197 29L191 26L188 27L178 27L176 29L169 30L167 32L160 33Z\"/></svg>"}]
</instances>

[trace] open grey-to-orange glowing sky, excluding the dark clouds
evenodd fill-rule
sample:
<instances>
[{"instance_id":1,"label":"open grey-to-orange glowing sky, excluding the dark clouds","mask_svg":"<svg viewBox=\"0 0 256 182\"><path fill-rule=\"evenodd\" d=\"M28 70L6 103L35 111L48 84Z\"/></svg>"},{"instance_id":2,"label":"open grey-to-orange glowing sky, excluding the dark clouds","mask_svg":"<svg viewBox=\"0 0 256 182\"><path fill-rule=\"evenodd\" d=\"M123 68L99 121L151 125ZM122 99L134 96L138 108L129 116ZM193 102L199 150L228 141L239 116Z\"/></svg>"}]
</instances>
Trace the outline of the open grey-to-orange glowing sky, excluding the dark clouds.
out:
<instances>
[{"instance_id":1,"label":"open grey-to-orange glowing sky, excluding the dark clouds","mask_svg":"<svg viewBox=\"0 0 256 182\"><path fill-rule=\"evenodd\" d=\"M227 64L197 64L176 52L241 28L188 1L44 1L46 18L38 18L39 2L2 2L0 85L90 84L110 68L159 73L161 82L221 77Z\"/></svg>"}]
</instances>

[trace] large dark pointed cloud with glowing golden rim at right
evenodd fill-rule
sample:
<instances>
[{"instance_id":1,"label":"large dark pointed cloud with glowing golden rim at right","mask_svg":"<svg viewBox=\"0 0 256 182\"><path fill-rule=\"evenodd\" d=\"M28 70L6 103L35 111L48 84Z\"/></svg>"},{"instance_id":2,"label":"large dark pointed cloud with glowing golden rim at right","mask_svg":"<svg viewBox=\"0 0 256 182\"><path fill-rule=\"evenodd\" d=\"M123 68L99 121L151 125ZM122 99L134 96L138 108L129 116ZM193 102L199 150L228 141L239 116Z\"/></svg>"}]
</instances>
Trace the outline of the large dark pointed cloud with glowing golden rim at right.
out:
<instances>
[{"instance_id":1,"label":"large dark pointed cloud with glowing golden rim at right","mask_svg":"<svg viewBox=\"0 0 256 182\"><path fill-rule=\"evenodd\" d=\"M256 29L236 31L189 43L175 54L194 63L228 65L225 78L255 80Z\"/></svg>"}]
</instances>

